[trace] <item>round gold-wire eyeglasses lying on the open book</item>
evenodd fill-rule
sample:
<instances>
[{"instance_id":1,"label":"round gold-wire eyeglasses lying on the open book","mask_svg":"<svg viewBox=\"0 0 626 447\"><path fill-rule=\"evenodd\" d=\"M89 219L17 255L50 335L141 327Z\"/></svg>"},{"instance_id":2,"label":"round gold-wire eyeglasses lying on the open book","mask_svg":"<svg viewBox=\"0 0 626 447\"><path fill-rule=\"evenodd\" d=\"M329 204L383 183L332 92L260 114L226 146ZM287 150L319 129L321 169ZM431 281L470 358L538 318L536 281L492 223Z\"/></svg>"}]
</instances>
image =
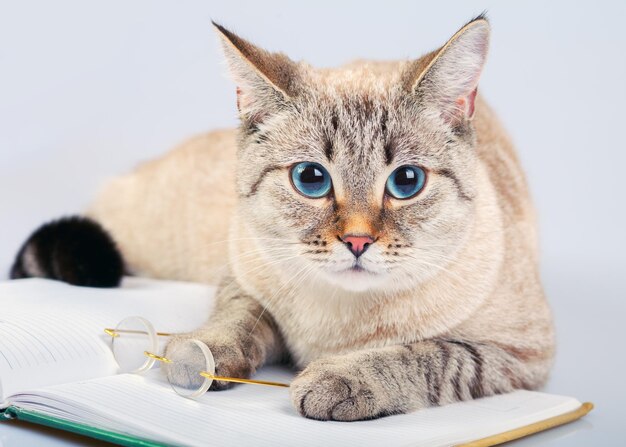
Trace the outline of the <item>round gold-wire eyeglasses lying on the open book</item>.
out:
<instances>
[{"instance_id":1,"label":"round gold-wire eyeglasses lying on the open book","mask_svg":"<svg viewBox=\"0 0 626 447\"><path fill-rule=\"evenodd\" d=\"M199 340L182 342L169 358L156 354L158 337L174 334L157 332L152 323L142 317L128 317L118 323L115 329L105 328L111 337L111 349L120 371L123 373L143 373L160 362L172 389L180 396L197 399L207 392L214 380L235 383L249 383L288 387L289 384L265 380L240 379L215 375L215 360L209 347Z\"/></svg>"}]
</instances>

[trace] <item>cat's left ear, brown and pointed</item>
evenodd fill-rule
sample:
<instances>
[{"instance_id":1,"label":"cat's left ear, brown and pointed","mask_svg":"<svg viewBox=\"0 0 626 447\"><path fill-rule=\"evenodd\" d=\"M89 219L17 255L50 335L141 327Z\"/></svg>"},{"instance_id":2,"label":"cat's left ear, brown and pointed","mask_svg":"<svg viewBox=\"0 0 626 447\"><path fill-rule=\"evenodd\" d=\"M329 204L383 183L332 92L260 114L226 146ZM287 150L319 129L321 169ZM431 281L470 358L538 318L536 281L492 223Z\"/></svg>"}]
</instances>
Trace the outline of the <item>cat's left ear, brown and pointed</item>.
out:
<instances>
[{"instance_id":1,"label":"cat's left ear, brown and pointed","mask_svg":"<svg viewBox=\"0 0 626 447\"><path fill-rule=\"evenodd\" d=\"M237 108L243 119L261 122L297 94L299 70L295 62L284 54L259 48L215 22L213 25L237 84Z\"/></svg>"}]
</instances>

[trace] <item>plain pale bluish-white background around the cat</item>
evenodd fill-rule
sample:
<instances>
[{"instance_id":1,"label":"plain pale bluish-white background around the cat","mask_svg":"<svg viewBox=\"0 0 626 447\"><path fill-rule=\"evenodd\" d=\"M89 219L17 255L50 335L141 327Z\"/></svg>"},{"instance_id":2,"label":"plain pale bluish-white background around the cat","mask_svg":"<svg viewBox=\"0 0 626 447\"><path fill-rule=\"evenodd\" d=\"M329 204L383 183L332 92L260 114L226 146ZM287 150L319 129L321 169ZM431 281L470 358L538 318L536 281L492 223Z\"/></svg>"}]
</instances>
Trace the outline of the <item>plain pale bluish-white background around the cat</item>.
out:
<instances>
[{"instance_id":1,"label":"plain pale bluish-white background around the cat","mask_svg":"<svg viewBox=\"0 0 626 447\"><path fill-rule=\"evenodd\" d=\"M236 124L211 19L333 66L417 57L484 9L493 38L481 92L517 144L540 216L559 336L547 389L597 405L523 443L623 440L623 1L2 0L0 278L31 230L79 212L107 177ZM20 433L0 426L0 446Z\"/></svg>"}]
</instances>

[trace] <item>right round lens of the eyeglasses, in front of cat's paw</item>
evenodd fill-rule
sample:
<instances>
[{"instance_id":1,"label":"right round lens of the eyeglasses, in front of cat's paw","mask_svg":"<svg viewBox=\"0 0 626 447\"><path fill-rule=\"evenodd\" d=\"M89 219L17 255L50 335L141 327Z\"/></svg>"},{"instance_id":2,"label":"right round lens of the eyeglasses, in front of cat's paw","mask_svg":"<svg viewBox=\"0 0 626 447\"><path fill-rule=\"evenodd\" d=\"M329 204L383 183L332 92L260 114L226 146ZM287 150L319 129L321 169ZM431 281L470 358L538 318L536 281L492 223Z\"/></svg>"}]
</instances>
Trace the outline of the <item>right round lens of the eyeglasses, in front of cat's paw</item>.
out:
<instances>
[{"instance_id":1,"label":"right round lens of the eyeglasses, in front of cat's paw","mask_svg":"<svg viewBox=\"0 0 626 447\"><path fill-rule=\"evenodd\" d=\"M209 347L198 340L179 341L167 350L168 363L163 369L172 389L179 395L195 399L207 392L215 374L215 360Z\"/></svg>"}]
</instances>

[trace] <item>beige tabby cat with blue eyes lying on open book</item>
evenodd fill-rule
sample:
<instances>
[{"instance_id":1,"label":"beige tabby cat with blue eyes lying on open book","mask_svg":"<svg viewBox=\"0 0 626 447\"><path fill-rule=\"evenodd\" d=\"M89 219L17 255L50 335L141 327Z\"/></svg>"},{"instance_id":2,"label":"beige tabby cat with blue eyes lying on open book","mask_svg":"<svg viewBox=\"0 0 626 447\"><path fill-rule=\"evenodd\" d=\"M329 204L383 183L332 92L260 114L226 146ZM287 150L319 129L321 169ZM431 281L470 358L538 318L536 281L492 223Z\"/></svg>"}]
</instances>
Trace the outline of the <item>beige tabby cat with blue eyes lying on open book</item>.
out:
<instances>
[{"instance_id":1,"label":"beige tabby cat with blue eyes lying on open book","mask_svg":"<svg viewBox=\"0 0 626 447\"><path fill-rule=\"evenodd\" d=\"M166 356L196 338L220 376L289 361L301 369L293 405L318 420L544 384L554 332L535 213L476 93L487 19L420 59L338 69L215 28L239 128L111 180L86 213L128 272L219 283L206 325ZM36 240L21 253L16 276L50 270Z\"/></svg>"}]
</instances>

